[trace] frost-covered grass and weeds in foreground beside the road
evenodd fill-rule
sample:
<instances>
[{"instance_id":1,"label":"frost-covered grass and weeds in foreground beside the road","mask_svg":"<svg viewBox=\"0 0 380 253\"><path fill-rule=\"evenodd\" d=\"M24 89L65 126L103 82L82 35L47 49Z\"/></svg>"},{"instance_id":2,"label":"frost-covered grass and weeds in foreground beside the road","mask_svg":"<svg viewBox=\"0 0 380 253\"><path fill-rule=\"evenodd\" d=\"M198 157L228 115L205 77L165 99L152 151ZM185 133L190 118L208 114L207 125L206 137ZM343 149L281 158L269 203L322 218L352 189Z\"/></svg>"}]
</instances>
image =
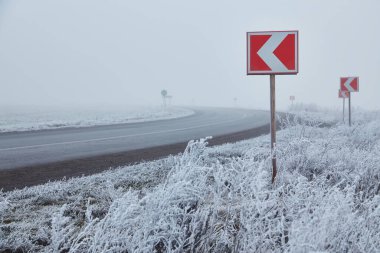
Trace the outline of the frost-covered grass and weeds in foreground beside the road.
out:
<instances>
[{"instance_id":1,"label":"frost-covered grass and weeds in foreground beside the road","mask_svg":"<svg viewBox=\"0 0 380 253\"><path fill-rule=\"evenodd\" d=\"M0 249L379 252L380 118L287 122L269 137L2 193Z\"/></svg>"}]
</instances>

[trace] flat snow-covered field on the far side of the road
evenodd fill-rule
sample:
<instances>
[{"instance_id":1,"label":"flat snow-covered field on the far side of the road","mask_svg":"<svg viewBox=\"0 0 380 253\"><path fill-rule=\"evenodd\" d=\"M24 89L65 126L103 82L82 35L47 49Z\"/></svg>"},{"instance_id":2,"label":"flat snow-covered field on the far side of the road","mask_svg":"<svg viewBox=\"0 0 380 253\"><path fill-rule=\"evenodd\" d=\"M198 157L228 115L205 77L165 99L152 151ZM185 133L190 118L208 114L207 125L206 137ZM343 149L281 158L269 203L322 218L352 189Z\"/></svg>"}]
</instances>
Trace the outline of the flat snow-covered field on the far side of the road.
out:
<instances>
[{"instance_id":1,"label":"flat snow-covered field on the far side of the road","mask_svg":"<svg viewBox=\"0 0 380 253\"><path fill-rule=\"evenodd\" d=\"M64 127L87 127L120 123L136 123L185 117L190 109L160 106L122 107L2 107L0 133Z\"/></svg>"}]
</instances>

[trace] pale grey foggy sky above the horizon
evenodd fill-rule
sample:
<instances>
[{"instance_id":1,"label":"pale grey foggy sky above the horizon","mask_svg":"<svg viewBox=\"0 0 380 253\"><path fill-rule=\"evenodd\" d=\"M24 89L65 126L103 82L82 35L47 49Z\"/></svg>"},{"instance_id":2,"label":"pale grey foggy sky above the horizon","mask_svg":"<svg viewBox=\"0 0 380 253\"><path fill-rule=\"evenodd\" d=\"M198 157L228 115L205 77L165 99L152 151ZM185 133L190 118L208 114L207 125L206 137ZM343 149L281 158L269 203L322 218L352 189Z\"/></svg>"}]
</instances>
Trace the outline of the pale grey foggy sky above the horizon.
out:
<instances>
[{"instance_id":1,"label":"pale grey foggy sky above the horizon","mask_svg":"<svg viewBox=\"0 0 380 253\"><path fill-rule=\"evenodd\" d=\"M380 109L377 0L0 0L0 104L176 104L269 108L269 77L246 75L246 32L299 30L299 74L277 105Z\"/></svg>"}]
</instances>

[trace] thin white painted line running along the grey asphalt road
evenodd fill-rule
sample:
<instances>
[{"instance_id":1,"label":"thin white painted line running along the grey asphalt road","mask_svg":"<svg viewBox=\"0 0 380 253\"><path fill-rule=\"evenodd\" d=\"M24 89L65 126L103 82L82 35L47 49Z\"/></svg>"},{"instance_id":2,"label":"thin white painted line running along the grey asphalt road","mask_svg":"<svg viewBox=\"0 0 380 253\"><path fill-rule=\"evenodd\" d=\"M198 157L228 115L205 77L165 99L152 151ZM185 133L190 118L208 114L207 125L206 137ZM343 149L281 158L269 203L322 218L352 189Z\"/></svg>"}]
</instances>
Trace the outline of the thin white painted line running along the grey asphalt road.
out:
<instances>
[{"instance_id":1,"label":"thin white painted line running along the grey asphalt road","mask_svg":"<svg viewBox=\"0 0 380 253\"><path fill-rule=\"evenodd\" d=\"M244 119L246 117L247 117L247 114L244 114L242 118ZM57 143L46 143L46 144L21 146L21 147L13 147L13 148L2 148L2 149L0 149L0 151L20 150L20 149L29 149L29 148L40 148L40 147L68 145L68 144L78 144L78 143L88 143L88 142L96 142L96 141L108 141L108 140L122 139L122 138L128 138L128 137L137 137L137 136L145 136L145 135L153 135L153 134L162 134L162 133L178 132L178 131L184 131L184 130L202 128L202 127L216 126L216 125L230 123L230 122L234 122L234 121L236 121L236 119L234 119L234 120L228 120L228 121L222 121L222 122L214 123L214 124L205 124L205 125L199 125L199 126L194 126L194 127L177 128L177 129L164 130L164 131L155 131L155 132L141 133L141 134L121 135L121 136L114 136L114 137L107 137L107 138L97 138L97 139L89 139L89 140L80 140L80 141L66 141L66 142L57 142Z\"/></svg>"}]
</instances>

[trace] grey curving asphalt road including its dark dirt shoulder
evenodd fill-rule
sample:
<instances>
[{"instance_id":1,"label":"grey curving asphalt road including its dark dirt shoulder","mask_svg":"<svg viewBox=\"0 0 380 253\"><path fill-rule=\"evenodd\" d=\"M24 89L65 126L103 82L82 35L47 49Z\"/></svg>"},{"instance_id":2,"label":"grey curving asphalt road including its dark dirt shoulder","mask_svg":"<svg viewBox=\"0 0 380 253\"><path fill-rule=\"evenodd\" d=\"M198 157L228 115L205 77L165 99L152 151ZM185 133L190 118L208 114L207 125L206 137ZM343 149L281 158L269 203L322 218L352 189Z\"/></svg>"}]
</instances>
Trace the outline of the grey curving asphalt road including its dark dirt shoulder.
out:
<instances>
[{"instance_id":1,"label":"grey curving asphalt road including its dark dirt shoulder","mask_svg":"<svg viewBox=\"0 0 380 253\"><path fill-rule=\"evenodd\" d=\"M192 139L212 144L269 131L269 113L197 108L171 120L0 134L0 188L30 186L183 151ZM253 132L252 132L253 131Z\"/></svg>"}]
</instances>

